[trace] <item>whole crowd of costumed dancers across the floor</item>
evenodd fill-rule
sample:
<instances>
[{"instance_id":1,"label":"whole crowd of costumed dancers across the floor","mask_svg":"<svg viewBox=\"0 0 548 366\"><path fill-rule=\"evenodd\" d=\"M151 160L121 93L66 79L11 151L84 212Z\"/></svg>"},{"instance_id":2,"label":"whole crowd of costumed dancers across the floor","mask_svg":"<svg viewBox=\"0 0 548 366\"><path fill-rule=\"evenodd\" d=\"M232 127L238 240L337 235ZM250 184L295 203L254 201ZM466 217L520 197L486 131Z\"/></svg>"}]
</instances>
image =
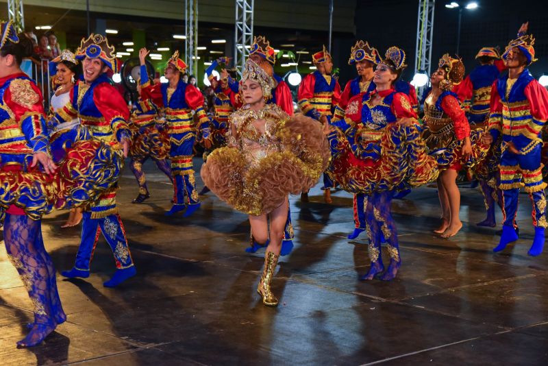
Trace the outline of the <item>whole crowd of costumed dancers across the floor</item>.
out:
<instances>
[{"instance_id":1,"label":"whole crowd of costumed dancers across the floor","mask_svg":"<svg viewBox=\"0 0 548 366\"><path fill-rule=\"evenodd\" d=\"M257 291L267 306L278 303L271 282L279 256L293 246L288 195L301 194L307 202L308 190L322 175L327 204L335 186L354 195L355 228L348 238L366 232L371 259L362 280L397 276L401 256L390 203L411 188L435 181L441 206L435 232L443 238L458 233L460 171L473 175L484 194L487 217L478 225L494 227L495 206L502 210L495 252L519 239L519 190L529 193L535 235L528 253L538 256L547 226L542 161L548 92L527 71L536 60L527 26L502 55L494 47L480 49L480 66L466 78L462 60L443 55L421 113L414 87L400 80L406 53L399 47L379 53L363 40L349 58L358 77L343 90L325 47L312 55L316 71L303 78L300 111L294 113L290 88L273 72L275 51L258 36L240 80L227 73L228 58L207 69L214 89L209 117L201 92L182 79L186 64L178 52L164 69L168 82L161 84L147 75L145 48L139 51L139 99L130 112L110 83L114 47L101 34L55 58L58 87L46 114L40 90L19 67L32 53L32 42L16 34L11 22L2 22L0 213L8 256L34 304L34 322L18 345L37 345L66 320L41 217L69 209L67 225L73 225L82 216L75 265L62 276L90 276L102 233L116 263L104 286L118 286L136 275L116 207L124 158L129 156L139 186L134 203L149 198L142 164L151 158L173 182L173 206L166 215L190 217L200 208L192 163L196 144L206 149L201 193L210 190L249 215L247 252L266 248ZM213 76L216 68L220 77Z\"/></svg>"}]
</instances>

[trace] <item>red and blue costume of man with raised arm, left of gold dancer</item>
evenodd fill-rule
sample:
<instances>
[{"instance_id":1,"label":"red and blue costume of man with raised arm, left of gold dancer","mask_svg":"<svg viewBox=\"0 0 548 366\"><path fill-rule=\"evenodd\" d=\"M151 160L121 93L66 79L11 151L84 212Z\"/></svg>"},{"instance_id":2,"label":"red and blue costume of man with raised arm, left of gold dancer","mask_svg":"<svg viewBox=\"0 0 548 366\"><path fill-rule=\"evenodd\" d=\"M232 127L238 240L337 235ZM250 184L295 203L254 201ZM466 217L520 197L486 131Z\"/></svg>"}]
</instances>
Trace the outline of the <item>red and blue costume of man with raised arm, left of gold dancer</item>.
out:
<instances>
[{"instance_id":1,"label":"red and blue costume of man with raised arm, left of gold dancer","mask_svg":"<svg viewBox=\"0 0 548 366\"><path fill-rule=\"evenodd\" d=\"M182 62L177 56L178 53L172 59ZM175 89L169 88L169 83L151 85L146 66L141 66L140 84L142 99L157 101L159 103L157 107L164 108L166 113L174 189L172 211L174 208L174 212L184 209L186 195L186 204L196 206L192 208L193 212L199 207L200 201L192 166L192 148L197 136L199 141L210 136L209 119L203 110L203 95L195 86L186 84L182 80L179 80ZM193 121L192 110L197 115L197 125ZM188 212L190 210L186 213Z\"/></svg>"}]
</instances>

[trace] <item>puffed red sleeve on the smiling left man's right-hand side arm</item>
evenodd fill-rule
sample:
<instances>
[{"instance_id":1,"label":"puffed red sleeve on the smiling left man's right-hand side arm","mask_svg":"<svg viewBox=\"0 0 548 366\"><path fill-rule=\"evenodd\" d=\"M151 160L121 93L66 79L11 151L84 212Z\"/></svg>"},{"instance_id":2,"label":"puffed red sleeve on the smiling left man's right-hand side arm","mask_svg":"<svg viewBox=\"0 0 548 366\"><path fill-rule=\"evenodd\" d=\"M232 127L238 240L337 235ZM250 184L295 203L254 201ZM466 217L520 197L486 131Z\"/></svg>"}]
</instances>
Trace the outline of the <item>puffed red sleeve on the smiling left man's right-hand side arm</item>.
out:
<instances>
[{"instance_id":1,"label":"puffed red sleeve on the smiling left man's right-hand side arm","mask_svg":"<svg viewBox=\"0 0 548 366\"><path fill-rule=\"evenodd\" d=\"M101 83L93 89L93 101L105 121L110 123L118 141L131 136L127 125L129 109L118 90L108 83Z\"/></svg>"}]
</instances>

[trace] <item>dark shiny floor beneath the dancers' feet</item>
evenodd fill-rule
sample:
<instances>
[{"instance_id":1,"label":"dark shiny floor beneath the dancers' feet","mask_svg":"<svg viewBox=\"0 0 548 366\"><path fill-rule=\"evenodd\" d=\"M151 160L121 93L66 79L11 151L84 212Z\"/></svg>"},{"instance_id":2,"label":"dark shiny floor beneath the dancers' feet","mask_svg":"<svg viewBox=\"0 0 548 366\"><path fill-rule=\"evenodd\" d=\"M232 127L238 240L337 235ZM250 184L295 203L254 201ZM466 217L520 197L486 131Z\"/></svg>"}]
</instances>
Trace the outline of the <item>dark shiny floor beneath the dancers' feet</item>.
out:
<instances>
[{"instance_id":1,"label":"dark shiny floor beneath the dancers' feet","mask_svg":"<svg viewBox=\"0 0 548 366\"><path fill-rule=\"evenodd\" d=\"M484 218L479 191L462 188L464 228L445 240L431 234L436 190L417 189L393 204L399 277L360 282L369 259L364 234L346 239L351 196L335 193L329 206L316 186L310 204L291 197L295 250L274 281L280 304L267 308L256 293L262 254L244 252L245 215L209 194L191 219L166 218L171 185L146 167L151 199L130 204L137 188L129 169L119 194L138 276L105 289L114 262L101 239L88 280L58 276L69 319L38 347L15 347L32 304L1 246L1 365L548 364L548 254L527 257L526 195L522 239L493 254L499 228L475 226ZM58 271L73 265L79 242L79 228L59 228L66 215L44 219Z\"/></svg>"}]
</instances>

